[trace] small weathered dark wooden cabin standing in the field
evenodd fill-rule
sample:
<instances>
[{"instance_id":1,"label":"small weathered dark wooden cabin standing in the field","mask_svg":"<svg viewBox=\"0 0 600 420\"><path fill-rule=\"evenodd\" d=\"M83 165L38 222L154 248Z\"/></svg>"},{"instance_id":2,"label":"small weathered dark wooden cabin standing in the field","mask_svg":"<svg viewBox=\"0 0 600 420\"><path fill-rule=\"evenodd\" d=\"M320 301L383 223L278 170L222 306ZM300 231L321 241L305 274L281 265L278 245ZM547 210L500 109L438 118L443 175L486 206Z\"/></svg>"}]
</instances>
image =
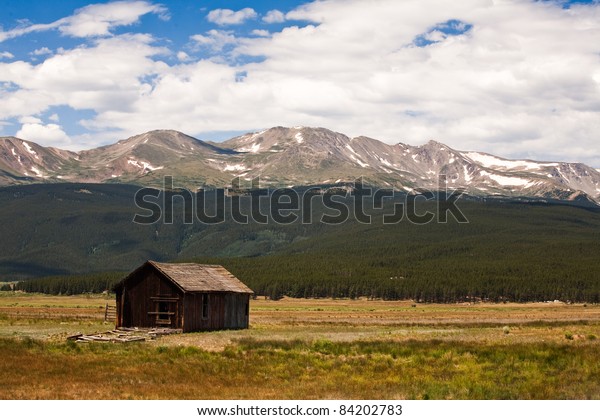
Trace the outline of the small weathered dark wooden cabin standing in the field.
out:
<instances>
[{"instance_id":1,"label":"small weathered dark wooden cabin standing in the field","mask_svg":"<svg viewBox=\"0 0 600 420\"><path fill-rule=\"evenodd\" d=\"M248 328L254 293L220 265L147 261L115 286L117 327Z\"/></svg>"}]
</instances>

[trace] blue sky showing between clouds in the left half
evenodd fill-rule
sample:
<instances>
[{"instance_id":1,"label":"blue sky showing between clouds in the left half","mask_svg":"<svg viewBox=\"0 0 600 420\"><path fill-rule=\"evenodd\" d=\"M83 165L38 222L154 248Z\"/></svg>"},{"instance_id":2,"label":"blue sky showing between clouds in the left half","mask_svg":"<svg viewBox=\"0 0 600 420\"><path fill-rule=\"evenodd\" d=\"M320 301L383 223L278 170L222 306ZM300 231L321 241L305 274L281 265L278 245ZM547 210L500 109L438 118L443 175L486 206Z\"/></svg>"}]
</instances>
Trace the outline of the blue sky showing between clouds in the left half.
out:
<instances>
[{"instance_id":1,"label":"blue sky showing between clouds in the left half","mask_svg":"<svg viewBox=\"0 0 600 420\"><path fill-rule=\"evenodd\" d=\"M14 1L0 0L0 28L5 32L19 27L27 27L36 24L50 24L59 21L68 16L73 16L78 10L86 6L94 6L99 4L110 4L119 2L97 1L90 2L85 0L61 0L58 2L48 1ZM121 3L136 3L121 2ZM226 45L221 51L212 51L210 48L199 48L190 37L194 34L202 34L211 30L231 31L230 27L235 28L236 36L256 37L252 34L253 30L269 30L280 31L290 24L290 21L283 23L279 21L265 22L263 18L267 16L269 11L278 10L281 13L287 13L290 10L298 7L300 1L278 1L278 2L248 2L248 1L197 1L197 0L178 0L178 1L163 1L163 2L146 2L148 5L156 5L156 12L140 14L133 23L117 26L110 29L110 34L113 36L123 36L130 33L147 33L154 37L153 45L162 45L171 50L173 54L166 54L160 57L169 65L177 65L182 60L178 58L176 53L185 53L189 55L189 59L183 61L196 60L214 60L216 55L231 51L232 46ZM256 16L247 19L241 19L240 23L219 24L211 21L208 14L213 10L239 10L248 9L251 4L251 9ZM277 6L275 9L274 6ZM303 22L296 22L302 24ZM226 29L227 28L227 29ZM78 37L65 36L56 29L43 31L33 31L21 36L9 38L0 44L0 53L10 56L3 57L2 61L26 61L32 64L41 64L45 59L51 57L59 49L70 50L82 45L93 45L95 37ZM91 42L90 42L91 41ZM253 60L260 60L255 57L239 57L233 61L234 64L248 63ZM243 74L243 72L240 72ZM151 79L151 78L150 78ZM67 131L69 135L81 136L89 133L89 129L78 124L81 120L93 118L95 114L94 108L73 108L68 105L54 105L36 117L42 117L42 120L47 120L50 116L58 116L61 122L61 127ZM56 118L55 118L56 119ZM21 123L18 118L7 119L4 121L4 130L2 134L16 134L21 128ZM249 127L250 129L255 127ZM202 133L208 135L212 139L222 140L229 138L232 135L245 132L244 130L205 130ZM42 135L43 137L43 135ZM101 139L102 137L96 137ZM35 140L35 139L32 139ZM102 140L100 140L102 141ZM108 142L113 141L113 136L107 137ZM43 141L42 141L43 143Z\"/></svg>"}]
</instances>

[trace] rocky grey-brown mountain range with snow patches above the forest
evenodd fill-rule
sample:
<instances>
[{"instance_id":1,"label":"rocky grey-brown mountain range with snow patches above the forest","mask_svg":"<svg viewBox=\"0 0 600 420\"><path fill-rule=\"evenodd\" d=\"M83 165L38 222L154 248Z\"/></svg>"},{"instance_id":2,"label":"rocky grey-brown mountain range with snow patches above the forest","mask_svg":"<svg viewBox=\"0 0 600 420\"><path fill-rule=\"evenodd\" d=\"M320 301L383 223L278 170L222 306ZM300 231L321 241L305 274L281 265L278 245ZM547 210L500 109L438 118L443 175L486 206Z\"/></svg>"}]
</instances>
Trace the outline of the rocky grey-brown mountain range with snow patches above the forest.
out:
<instances>
[{"instance_id":1,"label":"rocky grey-brown mountain range with snow patches above the forest","mask_svg":"<svg viewBox=\"0 0 600 420\"><path fill-rule=\"evenodd\" d=\"M390 145L325 128L274 127L222 143L155 130L115 144L70 152L0 137L0 185L83 182L162 187L226 187L260 177L261 186L365 184L404 190L449 188L474 196L600 203L600 172L582 163L512 160L458 151L436 141Z\"/></svg>"}]
</instances>

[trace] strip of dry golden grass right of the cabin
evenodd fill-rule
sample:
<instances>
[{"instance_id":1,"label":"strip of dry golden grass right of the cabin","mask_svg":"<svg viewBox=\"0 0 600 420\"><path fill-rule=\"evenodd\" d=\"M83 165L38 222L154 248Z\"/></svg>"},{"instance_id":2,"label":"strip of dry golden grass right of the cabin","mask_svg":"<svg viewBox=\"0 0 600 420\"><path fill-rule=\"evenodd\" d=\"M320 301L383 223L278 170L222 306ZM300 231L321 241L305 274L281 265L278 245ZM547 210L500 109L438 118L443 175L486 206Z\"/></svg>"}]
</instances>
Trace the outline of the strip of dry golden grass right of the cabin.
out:
<instances>
[{"instance_id":1,"label":"strip of dry golden grass right of the cabin","mask_svg":"<svg viewBox=\"0 0 600 420\"><path fill-rule=\"evenodd\" d=\"M246 338L256 340L327 339L445 340L489 343L535 343L600 337L600 305L418 304L413 302L257 299L251 304L251 328L240 331L164 337L162 345L198 346L222 351ZM508 327L508 334L503 331Z\"/></svg>"}]
</instances>

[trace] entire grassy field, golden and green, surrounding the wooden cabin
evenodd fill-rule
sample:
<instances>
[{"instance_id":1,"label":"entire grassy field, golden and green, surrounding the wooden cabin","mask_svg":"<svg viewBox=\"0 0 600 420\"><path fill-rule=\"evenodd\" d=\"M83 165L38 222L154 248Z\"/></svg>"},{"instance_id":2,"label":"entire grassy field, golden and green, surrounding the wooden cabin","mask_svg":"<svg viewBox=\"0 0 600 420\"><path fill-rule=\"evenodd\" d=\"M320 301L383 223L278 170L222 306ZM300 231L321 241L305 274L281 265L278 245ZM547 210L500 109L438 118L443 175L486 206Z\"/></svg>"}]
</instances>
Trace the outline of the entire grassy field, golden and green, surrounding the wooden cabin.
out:
<instances>
[{"instance_id":1,"label":"entire grassy field, golden and green, surrounding the wooden cabin","mask_svg":"<svg viewBox=\"0 0 600 420\"><path fill-rule=\"evenodd\" d=\"M257 299L248 330L65 340L106 302L0 294L0 398L600 398L598 305Z\"/></svg>"}]
</instances>

